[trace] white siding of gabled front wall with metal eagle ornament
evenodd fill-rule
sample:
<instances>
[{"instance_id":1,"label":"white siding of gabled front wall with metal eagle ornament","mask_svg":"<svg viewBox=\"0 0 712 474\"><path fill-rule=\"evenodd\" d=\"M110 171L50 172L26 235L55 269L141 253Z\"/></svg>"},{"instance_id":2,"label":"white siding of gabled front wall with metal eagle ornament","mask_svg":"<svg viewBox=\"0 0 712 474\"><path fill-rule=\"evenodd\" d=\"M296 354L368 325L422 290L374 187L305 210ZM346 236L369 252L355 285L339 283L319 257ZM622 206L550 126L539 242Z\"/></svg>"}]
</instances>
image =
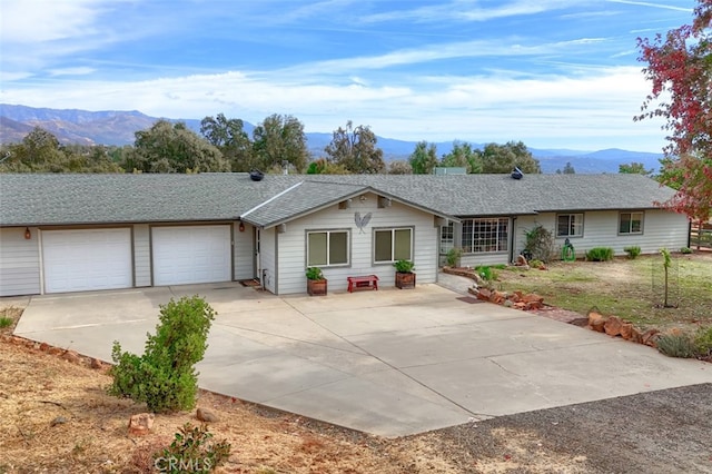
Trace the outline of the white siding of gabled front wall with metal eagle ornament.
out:
<instances>
[{"instance_id":1,"label":"white siding of gabled front wall with metal eagle ornament","mask_svg":"<svg viewBox=\"0 0 712 474\"><path fill-rule=\"evenodd\" d=\"M355 213L372 219L364 230L355 225ZM324 267L328 289L345 290L348 276L377 275L380 286L395 285L395 268L390 264L373 264L374 228L411 227L414 229L413 245L415 273L418 283L433 283L437 278L437 228L433 215L411 206L393 203L378 208L377 196L366 195L366 200L353 199L349 209L330 206L286 225L287 231L277 234L279 251L279 294L306 293L306 233L307 230L349 229L350 265L348 267Z\"/></svg>"}]
</instances>

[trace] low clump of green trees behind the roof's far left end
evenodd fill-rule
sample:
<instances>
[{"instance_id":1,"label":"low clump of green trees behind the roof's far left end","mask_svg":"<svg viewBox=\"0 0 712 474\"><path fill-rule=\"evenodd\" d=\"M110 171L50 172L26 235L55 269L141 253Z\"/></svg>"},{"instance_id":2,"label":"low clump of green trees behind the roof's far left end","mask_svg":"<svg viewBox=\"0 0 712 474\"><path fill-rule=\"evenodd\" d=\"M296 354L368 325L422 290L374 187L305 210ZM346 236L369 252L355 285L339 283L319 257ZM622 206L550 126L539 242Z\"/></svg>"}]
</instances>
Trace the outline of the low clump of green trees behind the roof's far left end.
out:
<instances>
[{"instance_id":1,"label":"low clump of green trees behind the roof's far left end","mask_svg":"<svg viewBox=\"0 0 712 474\"><path fill-rule=\"evenodd\" d=\"M36 127L20 144L2 147L0 172L121 172L102 146L63 146Z\"/></svg>"}]
</instances>

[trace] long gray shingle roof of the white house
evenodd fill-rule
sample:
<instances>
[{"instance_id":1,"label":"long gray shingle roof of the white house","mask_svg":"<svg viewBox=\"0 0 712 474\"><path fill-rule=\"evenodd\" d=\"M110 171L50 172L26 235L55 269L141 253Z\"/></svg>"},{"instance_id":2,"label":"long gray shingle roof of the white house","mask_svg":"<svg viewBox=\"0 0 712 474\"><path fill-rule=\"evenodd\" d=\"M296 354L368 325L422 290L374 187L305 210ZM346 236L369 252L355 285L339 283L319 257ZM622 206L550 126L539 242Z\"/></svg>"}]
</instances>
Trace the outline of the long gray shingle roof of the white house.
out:
<instances>
[{"instance_id":1,"label":"long gray shingle roof of the white house","mask_svg":"<svg viewBox=\"0 0 712 474\"><path fill-rule=\"evenodd\" d=\"M246 220L271 226L365 190L459 217L646 209L674 194L640 175L0 175L0 225L235 220L249 213Z\"/></svg>"}]
</instances>

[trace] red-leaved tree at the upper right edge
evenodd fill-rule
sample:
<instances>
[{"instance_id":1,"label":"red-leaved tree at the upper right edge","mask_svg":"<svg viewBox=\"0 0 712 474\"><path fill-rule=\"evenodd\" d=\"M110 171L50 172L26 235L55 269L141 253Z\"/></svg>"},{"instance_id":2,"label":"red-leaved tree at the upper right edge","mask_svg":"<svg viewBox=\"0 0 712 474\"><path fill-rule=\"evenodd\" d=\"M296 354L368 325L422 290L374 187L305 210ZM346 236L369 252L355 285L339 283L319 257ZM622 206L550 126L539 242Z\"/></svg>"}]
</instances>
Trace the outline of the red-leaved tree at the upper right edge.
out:
<instances>
[{"instance_id":1,"label":"red-leaved tree at the upper right edge","mask_svg":"<svg viewBox=\"0 0 712 474\"><path fill-rule=\"evenodd\" d=\"M640 61L652 82L635 120L663 117L670 161L663 184L680 184L666 207L705 221L712 215L712 0L698 0L692 24L637 39ZM676 170L682 171L680 182Z\"/></svg>"}]
</instances>

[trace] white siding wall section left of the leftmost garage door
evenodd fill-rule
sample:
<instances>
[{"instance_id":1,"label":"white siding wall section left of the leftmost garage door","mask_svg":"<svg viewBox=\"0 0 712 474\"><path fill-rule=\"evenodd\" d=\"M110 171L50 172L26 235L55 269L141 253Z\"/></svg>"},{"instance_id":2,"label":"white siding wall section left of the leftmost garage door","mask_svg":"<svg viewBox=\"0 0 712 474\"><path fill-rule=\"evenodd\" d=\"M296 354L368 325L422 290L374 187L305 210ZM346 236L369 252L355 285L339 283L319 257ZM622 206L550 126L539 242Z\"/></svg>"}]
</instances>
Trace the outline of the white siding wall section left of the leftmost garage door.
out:
<instances>
[{"instance_id":1,"label":"white siding wall section left of the leftmost garage door","mask_svg":"<svg viewBox=\"0 0 712 474\"><path fill-rule=\"evenodd\" d=\"M0 296L37 295L40 293L39 233L24 227L0 229Z\"/></svg>"}]
</instances>

